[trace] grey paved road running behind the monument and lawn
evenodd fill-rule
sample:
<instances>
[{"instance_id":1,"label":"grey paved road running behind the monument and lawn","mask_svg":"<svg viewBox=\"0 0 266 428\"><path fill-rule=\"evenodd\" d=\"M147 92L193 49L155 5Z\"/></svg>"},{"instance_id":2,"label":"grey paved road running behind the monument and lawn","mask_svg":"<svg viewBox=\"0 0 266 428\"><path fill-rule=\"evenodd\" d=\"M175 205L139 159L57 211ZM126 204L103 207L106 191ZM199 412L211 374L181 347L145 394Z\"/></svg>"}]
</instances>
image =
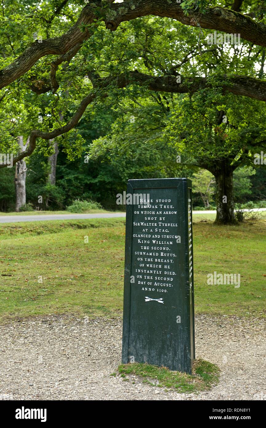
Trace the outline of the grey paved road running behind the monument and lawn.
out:
<instances>
[{"instance_id":1,"label":"grey paved road running behind the monument and lawn","mask_svg":"<svg viewBox=\"0 0 266 428\"><path fill-rule=\"evenodd\" d=\"M248 210L244 210L248 211ZM255 209L257 211L257 209ZM266 211L266 208L259 208L258 211ZM216 211L193 211L193 214L216 214ZM43 221L43 220L78 220L88 218L114 218L125 217L126 213L106 213L106 214L44 214L44 215L10 215L0 216L0 223L17 223L21 221Z\"/></svg>"}]
</instances>

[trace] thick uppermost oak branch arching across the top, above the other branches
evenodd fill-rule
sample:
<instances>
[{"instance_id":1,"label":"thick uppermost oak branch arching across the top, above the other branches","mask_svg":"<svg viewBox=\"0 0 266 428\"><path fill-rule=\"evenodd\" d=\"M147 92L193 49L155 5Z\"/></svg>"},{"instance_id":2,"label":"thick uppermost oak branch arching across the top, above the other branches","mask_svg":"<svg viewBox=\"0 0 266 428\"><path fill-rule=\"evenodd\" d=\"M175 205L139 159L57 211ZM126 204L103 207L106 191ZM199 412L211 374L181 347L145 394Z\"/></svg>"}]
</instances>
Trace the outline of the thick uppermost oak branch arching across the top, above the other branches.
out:
<instances>
[{"instance_id":1,"label":"thick uppermost oak branch arching across the top, above the other branches","mask_svg":"<svg viewBox=\"0 0 266 428\"><path fill-rule=\"evenodd\" d=\"M105 20L106 28L112 31L116 30L121 22L141 16L156 15L173 18L192 27L200 25L201 28L229 34L239 33L242 39L266 47L266 25L232 9L213 7L207 9L205 14L195 17L194 14L184 15L183 9L175 0L128 0L123 3L112 3L112 1L109 1L109 7L106 10L101 9L101 18ZM90 36L86 26L92 24L95 18L97 20L99 18L94 14L95 7L101 8L104 4L100 0L90 2L83 8L77 23L67 33L60 37L44 39L42 43L38 43L37 40L32 43L12 64L0 71L0 89L25 74L42 56L64 55L74 46L78 44L81 46L82 42Z\"/></svg>"}]
</instances>

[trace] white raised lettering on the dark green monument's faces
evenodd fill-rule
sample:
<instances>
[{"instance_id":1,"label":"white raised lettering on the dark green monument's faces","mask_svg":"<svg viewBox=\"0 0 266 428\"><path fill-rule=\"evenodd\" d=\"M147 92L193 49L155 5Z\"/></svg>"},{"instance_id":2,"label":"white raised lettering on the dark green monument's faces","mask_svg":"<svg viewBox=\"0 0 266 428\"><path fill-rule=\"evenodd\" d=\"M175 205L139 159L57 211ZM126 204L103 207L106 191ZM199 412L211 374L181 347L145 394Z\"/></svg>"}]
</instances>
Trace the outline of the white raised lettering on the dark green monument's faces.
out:
<instances>
[{"instance_id":1,"label":"white raised lettering on the dark green monument's faces","mask_svg":"<svg viewBox=\"0 0 266 428\"><path fill-rule=\"evenodd\" d=\"M177 284L174 266L178 254L177 239L181 235L182 226L176 222L177 200L153 199L152 195L150 197L146 209L143 209L143 205L134 208L132 236L135 262L132 274L137 279L134 286L141 287L145 302L164 303L162 298L148 297L147 292L165 294ZM189 283L192 283L191 223L191 199L188 199Z\"/></svg>"}]
</instances>

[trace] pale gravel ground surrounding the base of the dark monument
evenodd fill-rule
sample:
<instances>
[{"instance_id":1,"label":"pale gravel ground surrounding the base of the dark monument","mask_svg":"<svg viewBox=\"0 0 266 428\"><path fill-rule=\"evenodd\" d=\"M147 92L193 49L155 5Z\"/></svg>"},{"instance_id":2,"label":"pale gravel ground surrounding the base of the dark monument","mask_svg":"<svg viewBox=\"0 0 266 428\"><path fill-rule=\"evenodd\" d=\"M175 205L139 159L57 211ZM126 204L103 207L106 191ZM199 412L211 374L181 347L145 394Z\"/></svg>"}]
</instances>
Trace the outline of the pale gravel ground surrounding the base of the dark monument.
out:
<instances>
[{"instance_id":1,"label":"pale gravel ground surrounding the base of the dark monument","mask_svg":"<svg viewBox=\"0 0 266 428\"><path fill-rule=\"evenodd\" d=\"M121 357L121 318L13 321L0 327L0 399L265 400L265 327L254 318L196 316L196 356L218 364L221 380L178 394L110 376Z\"/></svg>"}]
</instances>

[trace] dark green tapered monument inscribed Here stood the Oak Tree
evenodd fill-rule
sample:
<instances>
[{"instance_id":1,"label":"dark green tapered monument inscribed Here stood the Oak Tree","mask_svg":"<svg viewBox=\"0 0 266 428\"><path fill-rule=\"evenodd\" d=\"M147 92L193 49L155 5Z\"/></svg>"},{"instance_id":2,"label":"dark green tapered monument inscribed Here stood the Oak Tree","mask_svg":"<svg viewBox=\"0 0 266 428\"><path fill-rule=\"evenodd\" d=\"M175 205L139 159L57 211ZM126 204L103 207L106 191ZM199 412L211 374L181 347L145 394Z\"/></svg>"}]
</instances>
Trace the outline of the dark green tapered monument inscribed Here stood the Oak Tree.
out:
<instances>
[{"instance_id":1,"label":"dark green tapered monument inscribed Here stood the Oak Tree","mask_svg":"<svg viewBox=\"0 0 266 428\"><path fill-rule=\"evenodd\" d=\"M123 363L191 373L195 358L192 184L129 180Z\"/></svg>"}]
</instances>

